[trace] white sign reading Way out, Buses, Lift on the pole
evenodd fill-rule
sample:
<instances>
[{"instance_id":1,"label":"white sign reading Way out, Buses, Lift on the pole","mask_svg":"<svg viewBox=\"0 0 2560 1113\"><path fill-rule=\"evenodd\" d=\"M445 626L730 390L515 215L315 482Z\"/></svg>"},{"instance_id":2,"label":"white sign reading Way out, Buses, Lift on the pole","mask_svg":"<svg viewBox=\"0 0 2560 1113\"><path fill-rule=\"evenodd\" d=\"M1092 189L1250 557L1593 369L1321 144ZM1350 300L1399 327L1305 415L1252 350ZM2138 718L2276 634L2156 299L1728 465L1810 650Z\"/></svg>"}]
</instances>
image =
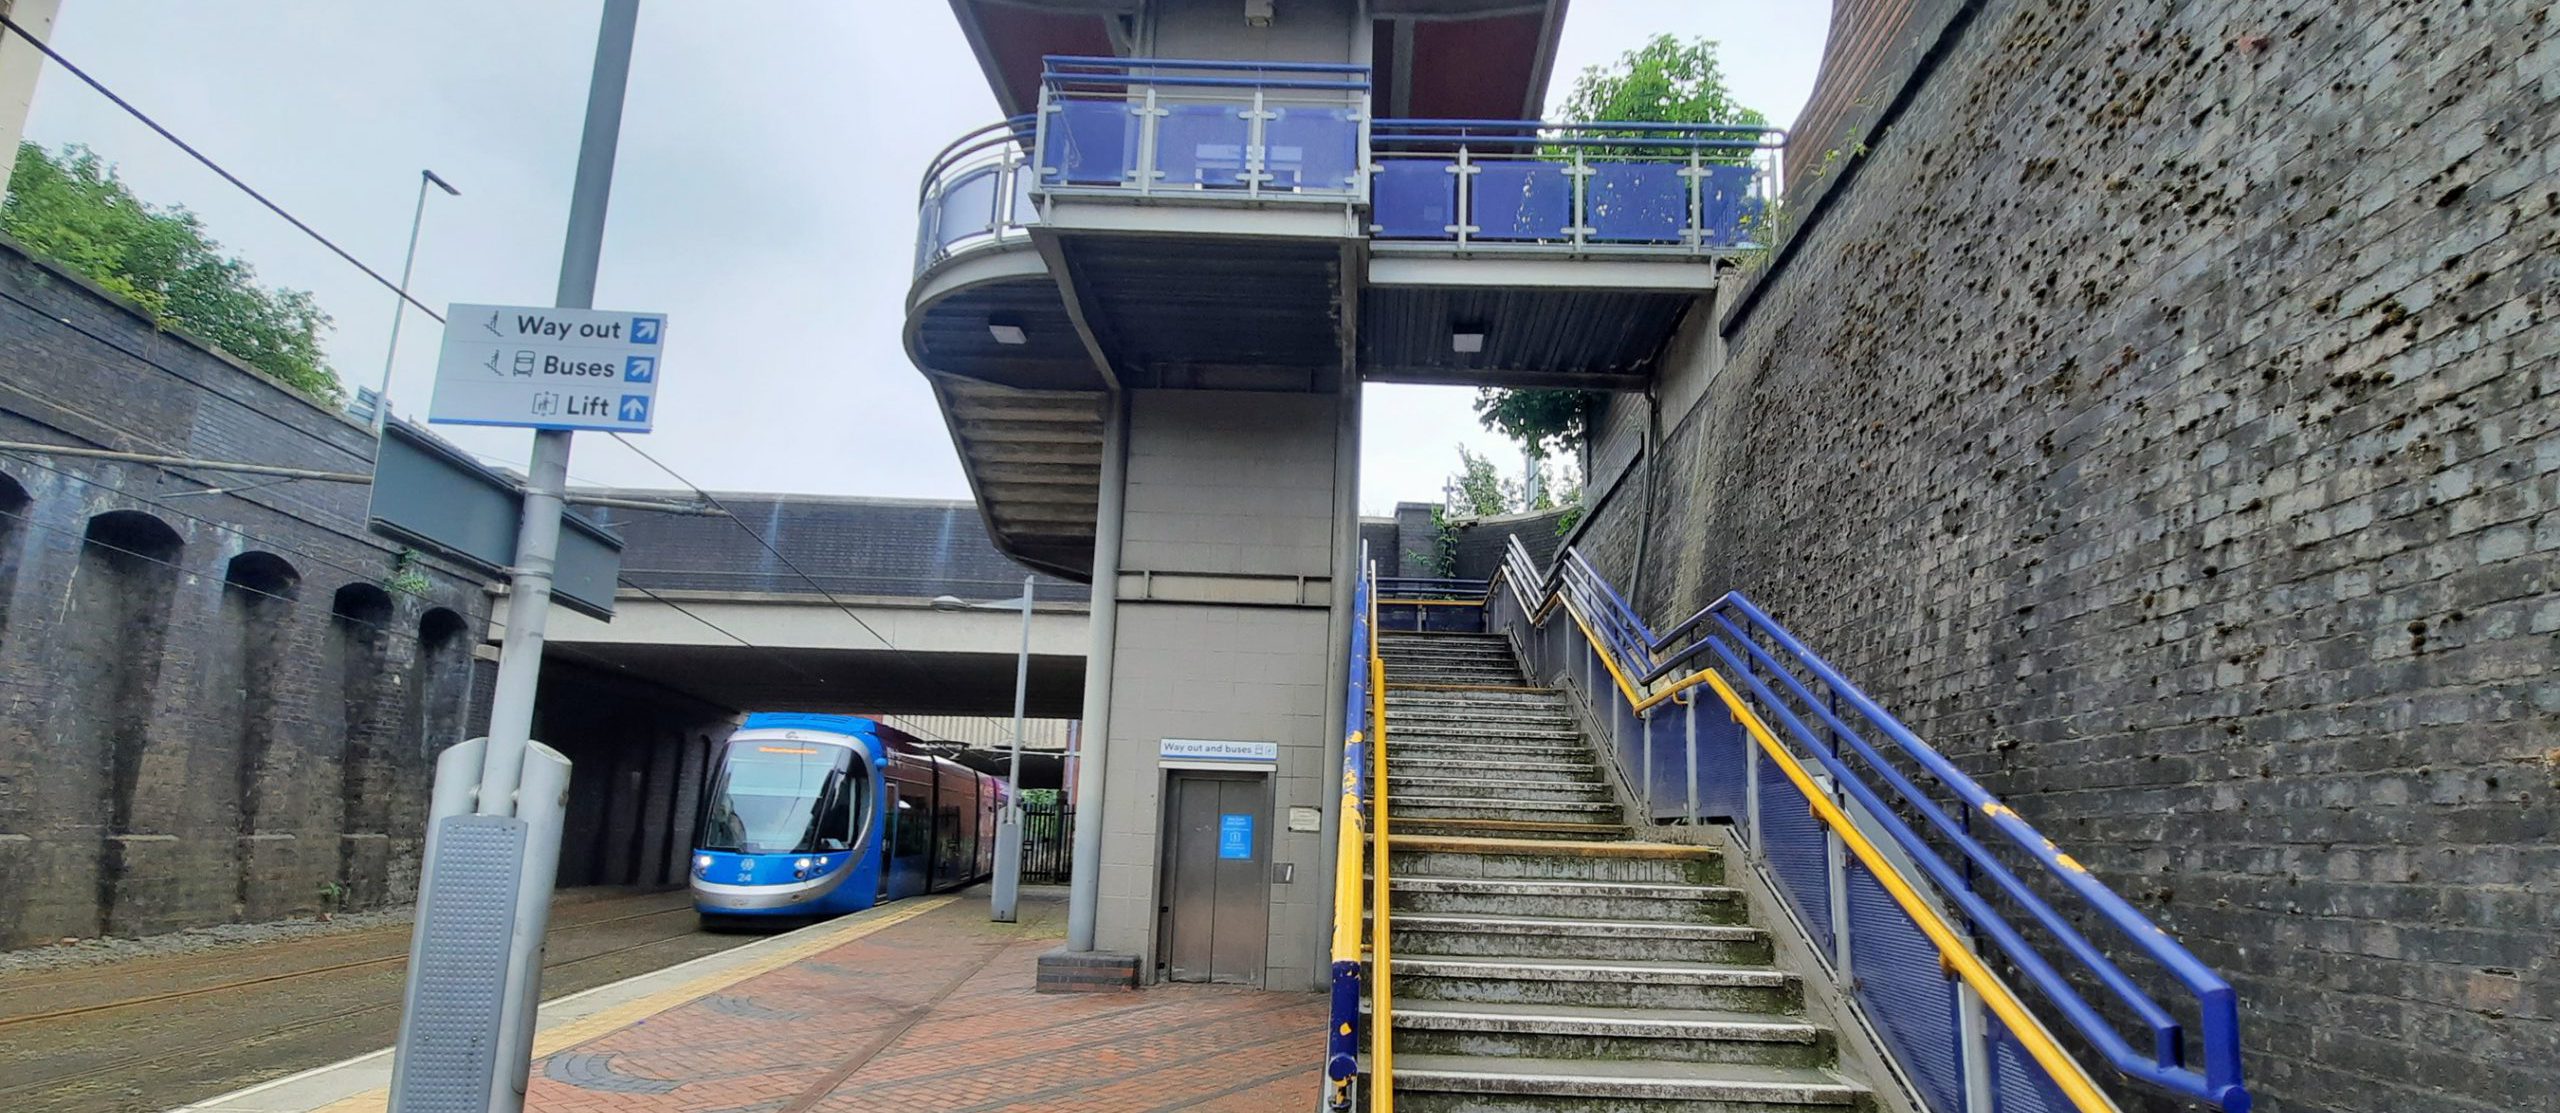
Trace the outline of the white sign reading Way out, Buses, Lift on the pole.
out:
<instances>
[{"instance_id":1,"label":"white sign reading Way out, Buses, Lift on the pole","mask_svg":"<svg viewBox=\"0 0 2560 1113\"><path fill-rule=\"evenodd\" d=\"M663 351L663 312L456 304L428 420L648 432Z\"/></svg>"}]
</instances>

